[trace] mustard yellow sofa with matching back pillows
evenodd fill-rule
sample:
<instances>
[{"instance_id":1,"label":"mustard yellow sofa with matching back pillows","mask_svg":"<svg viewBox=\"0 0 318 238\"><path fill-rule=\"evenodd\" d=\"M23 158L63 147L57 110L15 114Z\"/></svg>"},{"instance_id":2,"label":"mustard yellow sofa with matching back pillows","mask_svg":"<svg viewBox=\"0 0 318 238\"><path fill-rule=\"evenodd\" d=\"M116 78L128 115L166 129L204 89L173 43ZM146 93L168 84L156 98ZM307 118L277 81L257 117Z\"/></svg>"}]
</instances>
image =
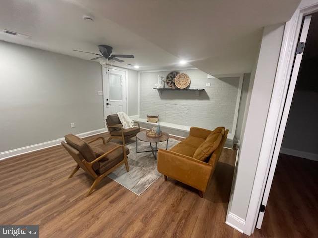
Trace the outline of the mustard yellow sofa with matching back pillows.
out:
<instances>
[{"instance_id":1,"label":"mustard yellow sofa with matching back pillows","mask_svg":"<svg viewBox=\"0 0 318 238\"><path fill-rule=\"evenodd\" d=\"M228 132L229 130L225 130L224 127L217 127L213 131L191 127L189 136L185 140L170 150L158 150L158 171L164 175L165 180L171 177L198 189L200 197L203 197ZM212 154L207 154L211 150Z\"/></svg>"}]
</instances>

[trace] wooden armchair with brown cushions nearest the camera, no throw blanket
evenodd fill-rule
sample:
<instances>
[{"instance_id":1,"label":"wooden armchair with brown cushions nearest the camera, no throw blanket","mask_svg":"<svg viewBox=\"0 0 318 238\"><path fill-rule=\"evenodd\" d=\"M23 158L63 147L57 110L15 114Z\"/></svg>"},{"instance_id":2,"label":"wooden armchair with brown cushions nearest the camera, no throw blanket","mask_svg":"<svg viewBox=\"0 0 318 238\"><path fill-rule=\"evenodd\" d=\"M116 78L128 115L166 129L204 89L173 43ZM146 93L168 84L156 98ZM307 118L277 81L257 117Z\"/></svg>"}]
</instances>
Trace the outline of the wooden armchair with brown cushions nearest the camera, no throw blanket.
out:
<instances>
[{"instance_id":1,"label":"wooden armchair with brown cushions nearest the camera, no throw blanket","mask_svg":"<svg viewBox=\"0 0 318 238\"><path fill-rule=\"evenodd\" d=\"M86 141L72 134L66 135L64 138L66 143L63 141L61 144L77 163L69 178L71 178L79 168L82 168L95 179L86 196L89 196L94 191L101 179L109 175L119 166L125 164L127 172L129 171L127 161L129 149L125 146L111 142L106 143L103 137L98 137L89 142L91 143L101 139L103 144L100 146L89 145Z\"/></svg>"}]
</instances>

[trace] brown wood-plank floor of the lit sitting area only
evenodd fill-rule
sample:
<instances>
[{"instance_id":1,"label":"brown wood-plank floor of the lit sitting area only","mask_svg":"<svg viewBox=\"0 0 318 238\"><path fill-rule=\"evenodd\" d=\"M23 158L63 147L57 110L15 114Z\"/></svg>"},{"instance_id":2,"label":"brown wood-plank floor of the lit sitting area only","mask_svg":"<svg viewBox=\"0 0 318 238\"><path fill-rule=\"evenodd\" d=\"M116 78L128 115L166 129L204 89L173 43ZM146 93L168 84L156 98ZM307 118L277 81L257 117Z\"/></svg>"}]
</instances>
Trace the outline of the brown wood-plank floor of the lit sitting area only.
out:
<instances>
[{"instance_id":1,"label":"brown wood-plank floor of the lit sitting area only","mask_svg":"<svg viewBox=\"0 0 318 238\"><path fill-rule=\"evenodd\" d=\"M39 225L41 238L241 237L225 224L235 155L223 150L204 198L163 176L141 196L106 177L85 197L92 179L67 179L76 164L62 146L12 157L0 161L0 224Z\"/></svg>"}]
</instances>

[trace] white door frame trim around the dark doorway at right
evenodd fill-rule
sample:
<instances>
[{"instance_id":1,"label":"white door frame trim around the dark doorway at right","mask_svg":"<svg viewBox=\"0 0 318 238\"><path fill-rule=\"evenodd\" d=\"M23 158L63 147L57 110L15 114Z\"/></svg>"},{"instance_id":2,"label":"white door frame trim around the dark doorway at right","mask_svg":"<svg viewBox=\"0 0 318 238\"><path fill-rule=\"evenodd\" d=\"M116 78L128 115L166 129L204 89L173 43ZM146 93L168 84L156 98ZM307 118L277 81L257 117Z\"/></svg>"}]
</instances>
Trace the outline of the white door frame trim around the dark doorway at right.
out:
<instances>
[{"instance_id":1,"label":"white door frame trim around the dark doorway at right","mask_svg":"<svg viewBox=\"0 0 318 238\"><path fill-rule=\"evenodd\" d=\"M274 152L275 156L278 157L279 149L281 147L283 138L282 136L278 137L278 133L280 132L280 129L285 130L285 126L284 128L280 128L280 124L281 122L283 123L283 121L281 121L283 111L289 111L289 108L285 108L285 100L289 89L295 51L301 31L303 17L316 11L318 11L318 0L316 0L315 3L307 3L307 5L306 3L300 3L299 8L296 9L292 18L285 24L271 103L268 111L263 142L245 220L244 233L247 235L250 235L254 232L271 161L274 156ZM284 119L287 121L287 117Z\"/></svg>"}]
</instances>

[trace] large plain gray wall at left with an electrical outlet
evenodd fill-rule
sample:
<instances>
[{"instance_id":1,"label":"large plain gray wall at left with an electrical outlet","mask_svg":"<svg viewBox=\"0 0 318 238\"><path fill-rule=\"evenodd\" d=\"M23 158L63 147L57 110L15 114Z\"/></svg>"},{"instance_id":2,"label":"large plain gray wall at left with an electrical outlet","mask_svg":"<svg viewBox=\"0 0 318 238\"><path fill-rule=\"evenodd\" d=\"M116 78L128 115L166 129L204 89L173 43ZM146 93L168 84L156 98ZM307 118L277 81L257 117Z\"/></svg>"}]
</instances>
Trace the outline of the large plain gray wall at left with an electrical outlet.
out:
<instances>
[{"instance_id":1,"label":"large plain gray wall at left with an electrical outlet","mask_svg":"<svg viewBox=\"0 0 318 238\"><path fill-rule=\"evenodd\" d=\"M97 90L99 63L0 41L0 152L104 128Z\"/></svg>"}]
</instances>

